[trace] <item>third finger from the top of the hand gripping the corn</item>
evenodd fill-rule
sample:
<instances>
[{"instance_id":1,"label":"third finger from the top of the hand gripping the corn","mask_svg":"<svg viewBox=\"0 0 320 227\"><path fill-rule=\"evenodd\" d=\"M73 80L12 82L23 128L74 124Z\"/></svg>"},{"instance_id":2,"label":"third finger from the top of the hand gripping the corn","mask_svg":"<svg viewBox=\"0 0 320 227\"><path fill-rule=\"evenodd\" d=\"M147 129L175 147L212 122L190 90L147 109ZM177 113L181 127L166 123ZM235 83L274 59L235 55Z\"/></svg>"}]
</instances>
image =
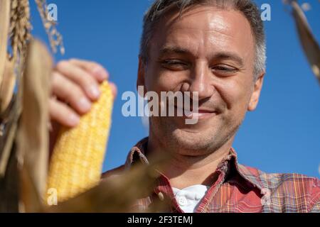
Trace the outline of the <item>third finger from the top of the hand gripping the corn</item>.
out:
<instances>
[{"instance_id":1,"label":"third finger from the top of the hand gripping the corn","mask_svg":"<svg viewBox=\"0 0 320 227\"><path fill-rule=\"evenodd\" d=\"M58 72L53 72L52 91L53 95L70 104L79 114L86 114L91 109L92 103L82 89Z\"/></svg>"}]
</instances>

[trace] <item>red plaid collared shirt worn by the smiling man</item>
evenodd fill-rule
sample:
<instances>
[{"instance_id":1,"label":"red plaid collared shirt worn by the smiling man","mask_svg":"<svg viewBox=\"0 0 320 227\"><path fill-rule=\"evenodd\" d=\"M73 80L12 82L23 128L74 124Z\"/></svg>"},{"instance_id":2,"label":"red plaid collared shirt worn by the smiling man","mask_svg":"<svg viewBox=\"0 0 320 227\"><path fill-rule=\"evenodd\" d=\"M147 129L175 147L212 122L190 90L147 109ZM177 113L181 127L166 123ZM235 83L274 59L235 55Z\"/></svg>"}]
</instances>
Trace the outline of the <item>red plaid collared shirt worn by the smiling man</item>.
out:
<instances>
[{"instance_id":1,"label":"red plaid collared shirt worn by the smiling man","mask_svg":"<svg viewBox=\"0 0 320 227\"><path fill-rule=\"evenodd\" d=\"M133 162L148 164L144 155L148 138L144 138L129 152L122 167L106 172L109 177L119 170L129 170ZM220 162L218 180L210 186L196 213L207 212L320 212L320 180L298 174L267 174L240 165L233 148ZM169 211L183 213L172 191L169 179L161 175L153 194L137 200L134 209L143 211L157 199L171 201Z\"/></svg>"}]
</instances>

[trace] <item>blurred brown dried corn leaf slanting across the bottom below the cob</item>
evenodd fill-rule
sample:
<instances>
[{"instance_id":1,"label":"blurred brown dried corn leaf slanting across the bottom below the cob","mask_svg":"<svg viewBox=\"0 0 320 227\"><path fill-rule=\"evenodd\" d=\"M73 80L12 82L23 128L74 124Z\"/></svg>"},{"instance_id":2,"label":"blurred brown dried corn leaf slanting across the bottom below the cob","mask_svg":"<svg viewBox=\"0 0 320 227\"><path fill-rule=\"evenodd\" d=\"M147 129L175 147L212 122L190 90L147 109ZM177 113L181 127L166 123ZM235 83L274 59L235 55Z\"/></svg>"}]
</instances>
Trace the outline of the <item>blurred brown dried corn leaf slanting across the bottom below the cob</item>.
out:
<instances>
[{"instance_id":1,"label":"blurred brown dried corn leaf slanting across the bottom below the cob","mask_svg":"<svg viewBox=\"0 0 320 227\"><path fill-rule=\"evenodd\" d=\"M89 191L64 201L58 206L50 206L45 212L138 212L132 207L137 199L149 196L157 183L164 163L164 157L151 165L139 165L122 175L103 179L102 182ZM166 201L154 201L151 211L163 211Z\"/></svg>"}]
</instances>

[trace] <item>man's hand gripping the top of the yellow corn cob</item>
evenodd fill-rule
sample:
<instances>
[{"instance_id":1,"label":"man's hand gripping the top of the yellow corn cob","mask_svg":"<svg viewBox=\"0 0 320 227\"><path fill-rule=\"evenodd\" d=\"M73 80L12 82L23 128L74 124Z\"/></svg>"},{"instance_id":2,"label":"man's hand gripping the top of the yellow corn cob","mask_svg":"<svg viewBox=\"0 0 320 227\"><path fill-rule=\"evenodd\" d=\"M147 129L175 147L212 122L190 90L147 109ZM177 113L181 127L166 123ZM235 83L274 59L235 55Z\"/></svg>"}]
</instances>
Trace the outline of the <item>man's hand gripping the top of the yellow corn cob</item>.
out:
<instances>
[{"instance_id":1,"label":"man's hand gripping the top of the yellow corn cob","mask_svg":"<svg viewBox=\"0 0 320 227\"><path fill-rule=\"evenodd\" d=\"M58 62L51 78L49 113L52 124L50 150L60 126L75 127L80 116L90 111L99 99L99 84L109 78L107 70L96 62L64 60ZM110 83L114 97L117 87Z\"/></svg>"}]
</instances>

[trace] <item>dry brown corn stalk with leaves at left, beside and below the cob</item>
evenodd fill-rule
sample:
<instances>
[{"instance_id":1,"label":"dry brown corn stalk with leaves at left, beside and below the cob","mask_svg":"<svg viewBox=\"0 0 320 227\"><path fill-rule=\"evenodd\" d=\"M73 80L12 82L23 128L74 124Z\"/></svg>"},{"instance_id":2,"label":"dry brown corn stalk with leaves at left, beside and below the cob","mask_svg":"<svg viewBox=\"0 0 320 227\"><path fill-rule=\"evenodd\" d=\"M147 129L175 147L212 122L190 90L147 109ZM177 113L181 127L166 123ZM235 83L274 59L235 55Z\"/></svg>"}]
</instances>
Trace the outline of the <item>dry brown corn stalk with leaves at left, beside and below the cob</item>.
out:
<instances>
[{"instance_id":1,"label":"dry brown corn stalk with leaves at left, beside and below the cob","mask_svg":"<svg viewBox=\"0 0 320 227\"><path fill-rule=\"evenodd\" d=\"M46 18L46 1L35 1L51 49L60 47L63 53L62 36ZM30 35L29 12L28 0L0 0L0 212L133 211L134 201L154 188L158 162L48 206L48 82L53 61L46 47ZM156 201L149 211L164 210L164 205Z\"/></svg>"}]
</instances>

